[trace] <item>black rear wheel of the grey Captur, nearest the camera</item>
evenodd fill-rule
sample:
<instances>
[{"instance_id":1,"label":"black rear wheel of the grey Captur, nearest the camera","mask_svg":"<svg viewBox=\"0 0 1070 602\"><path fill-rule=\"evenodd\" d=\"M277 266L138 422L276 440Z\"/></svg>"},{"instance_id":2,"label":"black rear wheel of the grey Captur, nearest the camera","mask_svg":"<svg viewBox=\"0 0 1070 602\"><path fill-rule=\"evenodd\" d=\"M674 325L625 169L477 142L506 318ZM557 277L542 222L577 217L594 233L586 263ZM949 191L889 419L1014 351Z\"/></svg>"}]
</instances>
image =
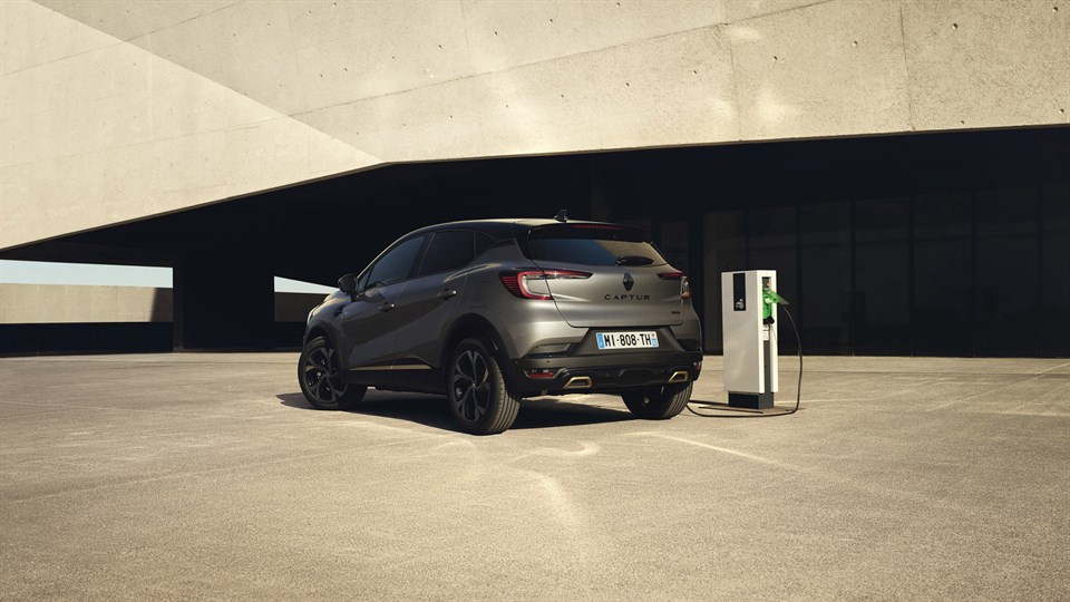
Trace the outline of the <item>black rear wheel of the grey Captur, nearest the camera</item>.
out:
<instances>
[{"instance_id":1,"label":"black rear wheel of the grey Captur, nearest the camera","mask_svg":"<svg viewBox=\"0 0 1070 602\"><path fill-rule=\"evenodd\" d=\"M446 371L446 397L461 430L473 435L504 431L521 409L521 398L506 387L497 358L478 339L465 339L454 349Z\"/></svg>"}]
</instances>

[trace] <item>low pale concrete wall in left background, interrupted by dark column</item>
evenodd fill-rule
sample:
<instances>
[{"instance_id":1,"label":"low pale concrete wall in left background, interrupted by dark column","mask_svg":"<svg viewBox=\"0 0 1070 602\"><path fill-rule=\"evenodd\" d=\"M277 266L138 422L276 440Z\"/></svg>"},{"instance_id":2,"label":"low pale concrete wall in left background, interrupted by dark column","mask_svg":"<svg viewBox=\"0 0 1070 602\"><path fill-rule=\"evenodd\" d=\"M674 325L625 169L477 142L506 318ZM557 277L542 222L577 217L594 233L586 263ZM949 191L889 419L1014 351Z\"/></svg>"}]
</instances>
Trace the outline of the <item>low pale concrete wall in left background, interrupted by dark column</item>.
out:
<instances>
[{"instance_id":1,"label":"low pale concrete wall in left background, interrupted by dark column","mask_svg":"<svg viewBox=\"0 0 1070 602\"><path fill-rule=\"evenodd\" d=\"M321 301L319 293L276 292L275 321L303 322ZM0 324L169 322L173 313L171 289L0 284Z\"/></svg>"}]
</instances>

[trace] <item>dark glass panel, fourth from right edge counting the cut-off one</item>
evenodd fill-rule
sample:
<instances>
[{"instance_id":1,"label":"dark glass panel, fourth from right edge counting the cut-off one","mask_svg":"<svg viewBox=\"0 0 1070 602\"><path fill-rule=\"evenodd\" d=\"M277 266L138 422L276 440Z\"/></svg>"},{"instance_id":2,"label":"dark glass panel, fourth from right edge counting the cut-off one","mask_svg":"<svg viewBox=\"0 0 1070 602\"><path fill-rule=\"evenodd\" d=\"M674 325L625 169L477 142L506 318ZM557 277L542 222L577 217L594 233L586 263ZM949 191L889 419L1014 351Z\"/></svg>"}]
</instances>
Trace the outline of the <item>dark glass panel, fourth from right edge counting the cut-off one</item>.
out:
<instances>
[{"instance_id":1,"label":"dark glass panel, fourth from right edge counting the cut-off one","mask_svg":"<svg viewBox=\"0 0 1070 602\"><path fill-rule=\"evenodd\" d=\"M911 205L855 203L855 353L911 353Z\"/></svg>"}]
</instances>

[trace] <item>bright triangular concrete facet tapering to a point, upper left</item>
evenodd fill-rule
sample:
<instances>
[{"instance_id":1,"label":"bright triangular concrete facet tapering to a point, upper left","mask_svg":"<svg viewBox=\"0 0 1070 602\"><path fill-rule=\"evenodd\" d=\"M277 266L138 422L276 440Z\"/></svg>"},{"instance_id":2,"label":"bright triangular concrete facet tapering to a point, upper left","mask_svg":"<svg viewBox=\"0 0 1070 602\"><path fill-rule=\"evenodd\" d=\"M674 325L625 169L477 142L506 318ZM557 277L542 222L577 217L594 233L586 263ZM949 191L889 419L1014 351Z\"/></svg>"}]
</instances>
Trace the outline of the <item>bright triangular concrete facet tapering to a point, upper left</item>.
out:
<instances>
[{"instance_id":1,"label":"bright triangular concrete facet tapering to a point, upper left","mask_svg":"<svg viewBox=\"0 0 1070 602\"><path fill-rule=\"evenodd\" d=\"M86 4L115 14L155 6ZM379 163L153 54L147 40L0 2L0 247Z\"/></svg>"}]
</instances>

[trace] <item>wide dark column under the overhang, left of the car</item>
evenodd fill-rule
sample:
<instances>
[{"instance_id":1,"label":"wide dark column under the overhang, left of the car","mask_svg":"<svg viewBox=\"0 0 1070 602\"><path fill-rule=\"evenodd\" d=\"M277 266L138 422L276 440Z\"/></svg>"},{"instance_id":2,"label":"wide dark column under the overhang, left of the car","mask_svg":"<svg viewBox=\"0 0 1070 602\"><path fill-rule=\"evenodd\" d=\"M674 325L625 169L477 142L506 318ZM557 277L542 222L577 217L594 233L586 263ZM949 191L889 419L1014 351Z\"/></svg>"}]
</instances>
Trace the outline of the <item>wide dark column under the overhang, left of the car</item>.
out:
<instances>
[{"instance_id":1,"label":"wide dark column under the overhang, left of the car","mask_svg":"<svg viewBox=\"0 0 1070 602\"><path fill-rule=\"evenodd\" d=\"M274 280L255 258L186 255L174 272L176 351L274 343Z\"/></svg>"}]
</instances>

